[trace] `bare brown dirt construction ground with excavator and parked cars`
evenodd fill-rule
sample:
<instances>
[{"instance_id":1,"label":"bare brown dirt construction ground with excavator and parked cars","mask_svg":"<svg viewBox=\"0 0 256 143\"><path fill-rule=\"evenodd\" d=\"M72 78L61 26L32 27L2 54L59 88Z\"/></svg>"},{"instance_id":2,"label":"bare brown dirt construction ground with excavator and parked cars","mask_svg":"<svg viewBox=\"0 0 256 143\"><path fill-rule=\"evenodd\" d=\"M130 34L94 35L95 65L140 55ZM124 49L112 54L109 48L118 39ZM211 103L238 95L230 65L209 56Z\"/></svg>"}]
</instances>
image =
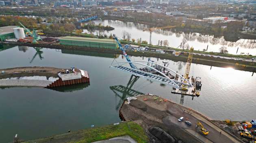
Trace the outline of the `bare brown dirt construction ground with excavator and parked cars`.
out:
<instances>
[{"instance_id":1,"label":"bare brown dirt construction ground with excavator and parked cars","mask_svg":"<svg viewBox=\"0 0 256 143\"><path fill-rule=\"evenodd\" d=\"M128 104L128 101L123 103L120 109L120 116L123 116L121 118L124 118L126 121L142 120L143 122L141 124L149 136L152 136L152 134L148 129L157 126L165 130L171 137L174 137L176 141L182 140L184 143L241 142L240 139L222 130L219 126L211 122L209 118L197 111L158 96L142 95L136 98L136 100L131 100L130 104ZM182 122L178 122L178 118L180 117L184 117ZM189 120L192 126L185 124L185 120ZM200 121L209 130L208 135L202 135L199 132L200 127L196 128L197 121ZM159 140L158 142L161 142L161 139ZM150 141L157 142L154 141L154 138L150 138Z\"/></svg>"}]
</instances>

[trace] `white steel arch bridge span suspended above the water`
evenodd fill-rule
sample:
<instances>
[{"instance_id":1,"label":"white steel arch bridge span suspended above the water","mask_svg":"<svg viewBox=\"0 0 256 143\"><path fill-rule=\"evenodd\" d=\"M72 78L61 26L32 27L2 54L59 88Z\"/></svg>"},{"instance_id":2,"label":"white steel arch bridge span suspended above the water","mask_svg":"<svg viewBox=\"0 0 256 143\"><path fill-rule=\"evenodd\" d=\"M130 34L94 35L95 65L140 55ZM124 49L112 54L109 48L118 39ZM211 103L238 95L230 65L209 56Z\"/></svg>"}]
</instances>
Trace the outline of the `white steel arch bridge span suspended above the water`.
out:
<instances>
[{"instance_id":1,"label":"white steel arch bridge span suspended above the water","mask_svg":"<svg viewBox=\"0 0 256 143\"><path fill-rule=\"evenodd\" d=\"M143 71L143 70L140 70L140 69L132 68L129 65L130 63L132 63L134 65L139 65L139 66L142 66L142 67L146 67L147 69L150 69L151 71L154 71L154 72L150 73L150 72ZM151 65L151 66L149 66L149 65ZM160 66L160 67L164 68L165 71L169 71L169 73L171 75L173 75L174 77L178 76L178 78L174 78L174 79L169 78L165 73L163 73L163 72L159 71L158 69L154 68L153 65L158 66L158 67ZM172 87L175 87L175 88L182 88L184 86L187 86L187 87L192 86L192 84L188 80L186 80L180 74L176 73L174 70L172 70L168 67L165 67L163 65L160 65L158 63L155 63L155 62L150 62L150 61L124 61L124 62L117 62L117 63L111 65L110 67L115 68L115 69L119 69L121 71L128 72L128 73L130 73L132 75L135 75L135 76L139 76L139 77L142 77L142 78L148 78L152 81L160 82L162 84L169 85L169 86L172 86ZM175 80L175 79L177 79L177 80ZM186 81L186 82L184 82L184 81Z\"/></svg>"}]
</instances>

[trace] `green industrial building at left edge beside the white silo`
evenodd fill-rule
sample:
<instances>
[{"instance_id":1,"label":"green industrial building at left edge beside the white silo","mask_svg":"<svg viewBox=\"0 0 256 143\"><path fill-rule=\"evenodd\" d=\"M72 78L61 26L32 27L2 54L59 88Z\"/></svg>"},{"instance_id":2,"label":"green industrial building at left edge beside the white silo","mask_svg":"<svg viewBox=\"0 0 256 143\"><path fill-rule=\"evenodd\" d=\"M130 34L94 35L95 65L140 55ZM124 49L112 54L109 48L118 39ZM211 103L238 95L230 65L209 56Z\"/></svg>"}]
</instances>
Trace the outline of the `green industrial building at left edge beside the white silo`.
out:
<instances>
[{"instance_id":1,"label":"green industrial building at left edge beside the white silo","mask_svg":"<svg viewBox=\"0 0 256 143\"><path fill-rule=\"evenodd\" d=\"M17 28L18 26L4 26L0 27L0 40L4 41L6 39L12 39L15 38L14 36L14 28Z\"/></svg>"}]
</instances>

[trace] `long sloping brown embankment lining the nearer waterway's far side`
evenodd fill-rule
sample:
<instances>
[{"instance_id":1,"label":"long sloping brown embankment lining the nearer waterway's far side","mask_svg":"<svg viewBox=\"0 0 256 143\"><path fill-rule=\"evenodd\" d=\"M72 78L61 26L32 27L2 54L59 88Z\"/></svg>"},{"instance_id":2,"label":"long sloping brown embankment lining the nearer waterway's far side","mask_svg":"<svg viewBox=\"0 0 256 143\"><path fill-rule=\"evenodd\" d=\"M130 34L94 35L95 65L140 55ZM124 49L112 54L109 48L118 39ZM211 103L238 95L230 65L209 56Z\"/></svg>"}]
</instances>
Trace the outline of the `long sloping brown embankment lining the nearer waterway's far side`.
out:
<instances>
[{"instance_id":1,"label":"long sloping brown embankment lining the nearer waterway's far side","mask_svg":"<svg viewBox=\"0 0 256 143\"><path fill-rule=\"evenodd\" d=\"M66 49L66 50L81 50L81 51L93 51L93 52L102 52L102 53L113 53L113 54L122 54L120 50L105 49L105 48L89 48L89 47L79 47L79 46L68 46L61 44L35 44L35 43L24 43L24 42L4 42L9 45L20 45L20 46L32 46L32 47L44 47L44 48L53 48L53 49ZM166 52L165 54L153 52L153 51L127 51L128 55L131 56L143 56L143 57L156 57L161 59L170 59L174 61L183 61L187 62L187 53L181 53L179 56L175 56L172 52ZM232 67L234 69L242 71L256 71L256 62L249 61L238 61L234 59L221 59L217 57L206 57L202 55L193 55L192 63L216 66L216 67Z\"/></svg>"}]
</instances>

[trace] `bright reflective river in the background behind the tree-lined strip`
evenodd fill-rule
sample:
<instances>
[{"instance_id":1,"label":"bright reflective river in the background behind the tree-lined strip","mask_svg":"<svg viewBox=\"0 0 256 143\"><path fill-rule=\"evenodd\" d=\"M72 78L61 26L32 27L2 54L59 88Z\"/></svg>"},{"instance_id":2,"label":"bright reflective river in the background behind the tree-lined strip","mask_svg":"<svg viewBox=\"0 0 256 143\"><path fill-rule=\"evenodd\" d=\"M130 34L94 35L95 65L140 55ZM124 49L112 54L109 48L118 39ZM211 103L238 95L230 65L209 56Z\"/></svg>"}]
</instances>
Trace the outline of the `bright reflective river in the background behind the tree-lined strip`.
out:
<instances>
[{"instance_id":1,"label":"bright reflective river in the background behind the tree-lined strip","mask_svg":"<svg viewBox=\"0 0 256 143\"><path fill-rule=\"evenodd\" d=\"M106 35L116 34L120 39L122 39L123 31L126 31L131 34L131 38L137 40L141 38L141 41L146 40L148 43L150 41L150 32L144 31L143 29L147 28L148 25L132 23L132 22L122 22L122 21L113 21L113 20L97 20L94 21L95 24L102 23L102 25L109 25L114 27L113 31L104 32ZM87 30L84 32L90 33ZM93 32L93 34L97 34ZM189 46L193 46L195 50L207 49L208 52L219 52L219 48L225 46L230 54L245 54L245 55L256 55L256 40L240 39L236 42L226 41L223 36L215 38L213 35L204 35L199 33L189 33L185 34L184 32L172 32L171 30L161 30L158 29L155 32L152 32L152 44L158 45L158 40L168 40L169 46L178 48L182 42L182 39L186 39ZM182 47L183 48L183 47Z\"/></svg>"}]
</instances>

